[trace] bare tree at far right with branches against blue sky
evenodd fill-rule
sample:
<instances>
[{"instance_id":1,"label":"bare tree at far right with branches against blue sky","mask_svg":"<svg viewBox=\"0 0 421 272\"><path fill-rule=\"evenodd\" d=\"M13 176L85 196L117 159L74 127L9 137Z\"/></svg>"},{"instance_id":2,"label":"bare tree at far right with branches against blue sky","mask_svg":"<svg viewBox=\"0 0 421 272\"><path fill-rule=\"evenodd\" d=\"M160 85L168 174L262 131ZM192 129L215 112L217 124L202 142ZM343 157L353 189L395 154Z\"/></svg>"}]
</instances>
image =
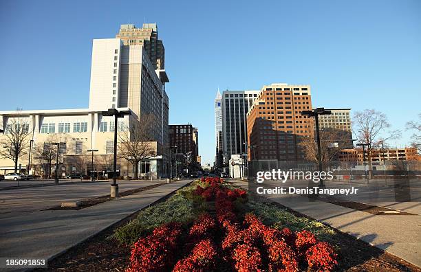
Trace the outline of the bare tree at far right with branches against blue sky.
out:
<instances>
[{"instance_id":1,"label":"bare tree at far right with branches against blue sky","mask_svg":"<svg viewBox=\"0 0 421 272\"><path fill-rule=\"evenodd\" d=\"M400 137L400 131L387 133L389 136L380 139L382 133L386 133L386 129L390 127L387 117L380 111L374 109L365 109L357 111L354 114L354 130L356 137L360 143L368 144L367 158L369 165L369 178L373 177L373 165L371 163L371 151L379 148L380 144L389 139L397 139Z\"/></svg>"}]
</instances>

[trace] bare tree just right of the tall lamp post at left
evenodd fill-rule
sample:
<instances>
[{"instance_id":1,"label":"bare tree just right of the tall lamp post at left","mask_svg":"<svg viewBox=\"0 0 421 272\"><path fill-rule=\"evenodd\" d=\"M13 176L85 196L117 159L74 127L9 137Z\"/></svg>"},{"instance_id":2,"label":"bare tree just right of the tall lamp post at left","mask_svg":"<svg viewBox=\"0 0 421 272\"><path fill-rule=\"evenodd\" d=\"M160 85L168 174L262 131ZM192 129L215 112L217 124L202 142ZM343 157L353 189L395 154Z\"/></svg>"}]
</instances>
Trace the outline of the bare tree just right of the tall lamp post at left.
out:
<instances>
[{"instance_id":1,"label":"bare tree just right of the tall lamp post at left","mask_svg":"<svg viewBox=\"0 0 421 272\"><path fill-rule=\"evenodd\" d=\"M138 122L118 133L120 157L127 159L134 166L134 179L138 179L140 161L155 156L153 145L153 115L141 115Z\"/></svg>"}]
</instances>

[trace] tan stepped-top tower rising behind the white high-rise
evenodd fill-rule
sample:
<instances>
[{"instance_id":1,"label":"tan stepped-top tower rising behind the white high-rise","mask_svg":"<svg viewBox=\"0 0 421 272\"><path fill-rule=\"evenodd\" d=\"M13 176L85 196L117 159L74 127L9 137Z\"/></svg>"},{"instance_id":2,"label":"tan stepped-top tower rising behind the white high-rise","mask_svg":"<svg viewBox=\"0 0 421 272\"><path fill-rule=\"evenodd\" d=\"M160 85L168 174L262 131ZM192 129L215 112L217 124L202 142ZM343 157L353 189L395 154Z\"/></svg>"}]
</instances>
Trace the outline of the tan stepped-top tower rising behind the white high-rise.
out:
<instances>
[{"instance_id":1,"label":"tan stepped-top tower rising behind the white high-rise","mask_svg":"<svg viewBox=\"0 0 421 272\"><path fill-rule=\"evenodd\" d=\"M120 38L123 45L142 45L154 69L164 69L165 49L158 39L156 23L144 23L142 28L133 24L121 25L116 38Z\"/></svg>"}]
</instances>

